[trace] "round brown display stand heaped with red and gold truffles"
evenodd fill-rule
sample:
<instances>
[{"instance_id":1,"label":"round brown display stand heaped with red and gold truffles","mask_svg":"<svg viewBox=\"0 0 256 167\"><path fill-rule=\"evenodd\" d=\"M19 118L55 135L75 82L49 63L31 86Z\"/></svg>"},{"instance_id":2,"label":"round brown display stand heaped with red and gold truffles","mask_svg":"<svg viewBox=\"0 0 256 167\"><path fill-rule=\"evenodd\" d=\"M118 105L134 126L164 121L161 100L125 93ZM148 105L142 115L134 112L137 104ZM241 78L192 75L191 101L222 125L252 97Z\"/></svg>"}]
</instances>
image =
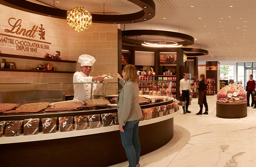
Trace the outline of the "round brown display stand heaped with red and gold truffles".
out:
<instances>
[{"instance_id":1,"label":"round brown display stand heaped with red and gold truffles","mask_svg":"<svg viewBox=\"0 0 256 167\"><path fill-rule=\"evenodd\" d=\"M246 92L241 84L229 84L217 93L216 116L220 118L247 116Z\"/></svg>"}]
</instances>

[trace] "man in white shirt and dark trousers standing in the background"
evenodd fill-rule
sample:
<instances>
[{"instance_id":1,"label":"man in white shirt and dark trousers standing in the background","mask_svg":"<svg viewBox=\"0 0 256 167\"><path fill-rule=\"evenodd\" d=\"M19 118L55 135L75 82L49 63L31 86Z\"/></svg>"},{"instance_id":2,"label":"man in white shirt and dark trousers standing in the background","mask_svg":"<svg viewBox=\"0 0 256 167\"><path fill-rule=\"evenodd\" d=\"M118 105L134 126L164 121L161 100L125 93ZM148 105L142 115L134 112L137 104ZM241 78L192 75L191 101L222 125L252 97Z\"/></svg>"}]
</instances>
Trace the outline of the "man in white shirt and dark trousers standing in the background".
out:
<instances>
[{"instance_id":1,"label":"man in white shirt and dark trousers standing in the background","mask_svg":"<svg viewBox=\"0 0 256 167\"><path fill-rule=\"evenodd\" d=\"M185 106L182 106L183 114L191 113L191 111L188 111L188 104L190 102L190 92L191 92L191 95L194 94L194 92L192 92L190 88L190 81L188 80L188 74L183 73L183 79L180 80L180 96L182 96L182 102L185 101L185 98L187 101L186 110L185 110Z\"/></svg>"}]
</instances>

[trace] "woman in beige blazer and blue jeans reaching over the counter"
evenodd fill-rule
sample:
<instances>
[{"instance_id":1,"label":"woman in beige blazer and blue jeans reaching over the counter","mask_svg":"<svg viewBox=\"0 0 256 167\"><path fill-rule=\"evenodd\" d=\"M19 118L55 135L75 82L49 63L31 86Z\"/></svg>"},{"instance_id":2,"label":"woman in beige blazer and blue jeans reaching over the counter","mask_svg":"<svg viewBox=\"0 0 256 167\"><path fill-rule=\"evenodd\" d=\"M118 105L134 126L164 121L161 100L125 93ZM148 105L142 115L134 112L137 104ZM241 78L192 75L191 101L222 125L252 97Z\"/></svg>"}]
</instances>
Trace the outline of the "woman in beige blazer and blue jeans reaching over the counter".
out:
<instances>
[{"instance_id":1,"label":"woman in beige blazer and blue jeans reaching over the counter","mask_svg":"<svg viewBox=\"0 0 256 167\"><path fill-rule=\"evenodd\" d=\"M119 130L129 167L139 167L139 122L142 119L142 111L139 106L136 67L132 64L124 66L122 75L123 79L118 73L114 74L123 86L117 98Z\"/></svg>"}]
</instances>

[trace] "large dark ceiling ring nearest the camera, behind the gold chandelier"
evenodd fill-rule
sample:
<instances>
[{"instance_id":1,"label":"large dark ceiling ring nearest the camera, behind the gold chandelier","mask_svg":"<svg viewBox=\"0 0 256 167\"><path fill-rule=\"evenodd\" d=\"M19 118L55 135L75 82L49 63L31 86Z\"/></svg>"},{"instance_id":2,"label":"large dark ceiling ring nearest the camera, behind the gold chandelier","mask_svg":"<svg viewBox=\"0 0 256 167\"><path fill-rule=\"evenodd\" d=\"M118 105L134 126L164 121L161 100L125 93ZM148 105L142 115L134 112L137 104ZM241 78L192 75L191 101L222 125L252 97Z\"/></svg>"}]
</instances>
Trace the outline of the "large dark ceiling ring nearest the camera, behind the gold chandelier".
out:
<instances>
[{"instance_id":1,"label":"large dark ceiling ring nearest the camera, behind the gold chandelier","mask_svg":"<svg viewBox=\"0 0 256 167\"><path fill-rule=\"evenodd\" d=\"M153 0L127 0L142 8L141 11L125 15L99 15L91 14L93 23L138 23L150 20L155 16L155 3ZM66 19L66 10L39 5L26 0L0 0L0 4L14 9L55 18Z\"/></svg>"}]
</instances>

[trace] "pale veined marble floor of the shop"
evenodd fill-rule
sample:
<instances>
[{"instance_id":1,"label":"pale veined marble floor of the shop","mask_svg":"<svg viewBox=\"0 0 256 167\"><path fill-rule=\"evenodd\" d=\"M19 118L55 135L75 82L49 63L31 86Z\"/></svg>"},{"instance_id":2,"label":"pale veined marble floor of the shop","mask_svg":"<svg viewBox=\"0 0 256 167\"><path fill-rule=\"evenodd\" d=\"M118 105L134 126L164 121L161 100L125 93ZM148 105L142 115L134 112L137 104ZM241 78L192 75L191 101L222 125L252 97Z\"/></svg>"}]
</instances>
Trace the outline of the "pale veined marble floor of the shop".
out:
<instances>
[{"instance_id":1,"label":"pale veined marble floor of the shop","mask_svg":"<svg viewBox=\"0 0 256 167\"><path fill-rule=\"evenodd\" d=\"M141 156L140 166L256 167L256 109L247 107L245 118L218 118L216 98L207 96L209 115L196 115L199 105L193 99L192 113L174 117L174 138ZM111 167L128 167L128 161Z\"/></svg>"}]
</instances>

